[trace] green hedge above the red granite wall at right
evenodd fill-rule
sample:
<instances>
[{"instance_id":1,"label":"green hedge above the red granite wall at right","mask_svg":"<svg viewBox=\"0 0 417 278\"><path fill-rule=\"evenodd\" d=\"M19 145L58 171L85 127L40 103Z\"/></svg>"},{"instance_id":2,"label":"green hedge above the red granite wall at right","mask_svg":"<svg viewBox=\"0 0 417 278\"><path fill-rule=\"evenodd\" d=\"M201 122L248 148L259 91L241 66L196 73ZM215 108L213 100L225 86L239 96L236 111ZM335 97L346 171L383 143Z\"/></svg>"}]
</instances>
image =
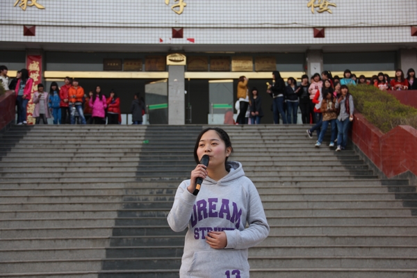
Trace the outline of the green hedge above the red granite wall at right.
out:
<instances>
[{"instance_id":1,"label":"green hedge above the red granite wall at right","mask_svg":"<svg viewBox=\"0 0 417 278\"><path fill-rule=\"evenodd\" d=\"M417 109L401 104L388 92L371 85L350 86L349 92L354 99L355 111L377 126L382 132L388 132L395 126L409 125L417 129Z\"/></svg>"}]
</instances>

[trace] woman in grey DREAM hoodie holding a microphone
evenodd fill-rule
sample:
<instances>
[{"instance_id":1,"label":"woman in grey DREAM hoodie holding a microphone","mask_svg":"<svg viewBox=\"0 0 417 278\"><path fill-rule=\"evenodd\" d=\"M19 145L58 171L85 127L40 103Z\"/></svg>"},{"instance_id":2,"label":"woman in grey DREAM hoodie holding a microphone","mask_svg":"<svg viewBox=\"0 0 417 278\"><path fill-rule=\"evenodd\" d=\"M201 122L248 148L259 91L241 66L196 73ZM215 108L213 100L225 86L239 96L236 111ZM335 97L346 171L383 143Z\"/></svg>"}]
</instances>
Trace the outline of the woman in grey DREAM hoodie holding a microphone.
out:
<instances>
[{"instance_id":1,"label":"woman in grey DREAM hoodie holding a microphone","mask_svg":"<svg viewBox=\"0 0 417 278\"><path fill-rule=\"evenodd\" d=\"M229 136L222 129L204 129L197 138L197 167L179 185L167 217L173 231L188 228L181 278L249 277L248 248L269 234L258 191L240 163L227 162L231 152ZM199 164L204 154L209 156L207 167ZM203 182L194 195L197 178Z\"/></svg>"}]
</instances>

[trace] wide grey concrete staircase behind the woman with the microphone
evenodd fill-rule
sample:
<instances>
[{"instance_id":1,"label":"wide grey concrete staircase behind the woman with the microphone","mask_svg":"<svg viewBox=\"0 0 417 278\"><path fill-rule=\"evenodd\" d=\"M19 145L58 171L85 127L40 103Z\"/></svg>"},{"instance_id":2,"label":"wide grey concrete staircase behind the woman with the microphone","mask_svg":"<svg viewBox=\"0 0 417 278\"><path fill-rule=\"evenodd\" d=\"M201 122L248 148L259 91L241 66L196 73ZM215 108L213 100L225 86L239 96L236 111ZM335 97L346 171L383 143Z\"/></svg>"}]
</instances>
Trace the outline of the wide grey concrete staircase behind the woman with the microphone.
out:
<instances>
[{"instance_id":1,"label":"wide grey concrete staircase behind the woman with the microphone","mask_svg":"<svg viewBox=\"0 0 417 278\"><path fill-rule=\"evenodd\" d=\"M202 126L14 126L0 138L0 277L178 277L167 226ZM416 188L306 126L224 126L270 236L251 277L417 277ZM322 145L324 146L324 144Z\"/></svg>"}]
</instances>

